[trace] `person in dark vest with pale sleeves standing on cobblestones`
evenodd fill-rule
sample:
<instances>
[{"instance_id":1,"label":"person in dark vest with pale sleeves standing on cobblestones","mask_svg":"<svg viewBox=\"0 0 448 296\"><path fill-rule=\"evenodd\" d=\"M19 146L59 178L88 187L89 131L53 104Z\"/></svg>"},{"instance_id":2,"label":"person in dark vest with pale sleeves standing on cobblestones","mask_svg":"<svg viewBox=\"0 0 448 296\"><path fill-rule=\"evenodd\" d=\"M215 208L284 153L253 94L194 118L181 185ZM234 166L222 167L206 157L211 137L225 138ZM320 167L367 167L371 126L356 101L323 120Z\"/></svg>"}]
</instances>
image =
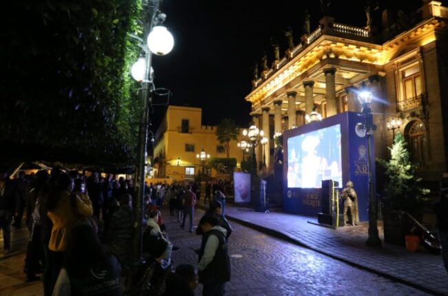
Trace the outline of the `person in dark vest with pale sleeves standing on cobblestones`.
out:
<instances>
[{"instance_id":1,"label":"person in dark vest with pale sleeves standing on cobblestones","mask_svg":"<svg viewBox=\"0 0 448 296\"><path fill-rule=\"evenodd\" d=\"M225 283L230 281L230 258L227 253L227 231L219 226L216 216L204 215L199 222L203 232L198 253L199 282L204 296L224 295Z\"/></svg>"}]
</instances>

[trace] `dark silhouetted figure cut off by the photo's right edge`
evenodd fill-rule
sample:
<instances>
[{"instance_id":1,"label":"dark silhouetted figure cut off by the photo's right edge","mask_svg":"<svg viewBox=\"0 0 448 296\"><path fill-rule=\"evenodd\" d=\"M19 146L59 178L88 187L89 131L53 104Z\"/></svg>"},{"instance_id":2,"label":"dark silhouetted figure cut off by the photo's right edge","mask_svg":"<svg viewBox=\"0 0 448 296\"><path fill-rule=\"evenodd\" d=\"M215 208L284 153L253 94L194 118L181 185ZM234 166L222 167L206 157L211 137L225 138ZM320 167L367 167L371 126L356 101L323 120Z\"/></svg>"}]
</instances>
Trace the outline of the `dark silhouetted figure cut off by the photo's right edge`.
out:
<instances>
[{"instance_id":1,"label":"dark silhouetted figure cut off by the photo's right edge","mask_svg":"<svg viewBox=\"0 0 448 296\"><path fill-rule=\"evenodd\" d=\"M440 200L434 203L434 212L437 217L437 228L442 243L442 260L448 273L448 189L440 190Z\"/></svg>"}]
</instances>

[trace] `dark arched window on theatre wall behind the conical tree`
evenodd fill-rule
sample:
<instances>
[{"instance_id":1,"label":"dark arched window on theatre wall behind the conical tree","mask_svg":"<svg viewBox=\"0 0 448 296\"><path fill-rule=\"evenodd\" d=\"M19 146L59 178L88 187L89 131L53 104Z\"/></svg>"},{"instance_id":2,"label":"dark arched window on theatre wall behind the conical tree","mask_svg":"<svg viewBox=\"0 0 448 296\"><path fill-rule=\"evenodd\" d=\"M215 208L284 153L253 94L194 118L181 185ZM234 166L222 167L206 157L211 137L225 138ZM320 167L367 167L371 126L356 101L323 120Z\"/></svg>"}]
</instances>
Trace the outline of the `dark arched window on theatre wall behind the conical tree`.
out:
<instances>
[{"instance_id":1,"label":"dark arched window on theatre wall behind the conical tree","mask_svg":"<svg viewBox=\"0 0 448 296\"><path fill-rule=\"evenodd\" d=\"M407 136L411 160L421 169L424 167L426 159L425 125L421 121L414 121L409 127Z\"/></svg>"}]
</instances>

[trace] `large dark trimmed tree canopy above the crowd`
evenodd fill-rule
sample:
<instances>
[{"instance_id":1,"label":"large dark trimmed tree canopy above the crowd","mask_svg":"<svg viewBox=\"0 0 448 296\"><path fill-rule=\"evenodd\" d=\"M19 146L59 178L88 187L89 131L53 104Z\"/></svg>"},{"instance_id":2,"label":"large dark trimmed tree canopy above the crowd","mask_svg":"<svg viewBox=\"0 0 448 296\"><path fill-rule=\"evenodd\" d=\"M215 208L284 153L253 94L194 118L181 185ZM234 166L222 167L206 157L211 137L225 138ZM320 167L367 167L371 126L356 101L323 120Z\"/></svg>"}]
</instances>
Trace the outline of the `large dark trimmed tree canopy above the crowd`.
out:
<instances>
[{"instance_id":1,"label":"large dark trimmed tree canopy above the crowd","mask_svg":"<svg viewBox=\"0 0 448 296\"><path fill-rule=\"evenodd\" d=\"M90 165L136 152L141 0L13 1L0 48L5 158ZM32 25L30 25L32 24ZM28 158L28 159L27 159Z\"/></svg>"}]
</instances>

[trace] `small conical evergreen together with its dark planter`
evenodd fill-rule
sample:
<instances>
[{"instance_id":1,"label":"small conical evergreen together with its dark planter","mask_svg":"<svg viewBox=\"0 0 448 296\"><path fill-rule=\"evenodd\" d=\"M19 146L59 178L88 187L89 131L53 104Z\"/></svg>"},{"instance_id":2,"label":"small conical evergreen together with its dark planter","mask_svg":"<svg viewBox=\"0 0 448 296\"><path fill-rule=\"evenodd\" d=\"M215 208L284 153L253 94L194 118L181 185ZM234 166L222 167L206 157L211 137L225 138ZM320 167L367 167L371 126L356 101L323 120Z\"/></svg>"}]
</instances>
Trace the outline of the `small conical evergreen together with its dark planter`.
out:
<instances>
[{"instance_id":1,"label":"small conical evergreen together with its dark planter","mask_svg":"<svg viewBox=\"0 0 448 296\"><path fill-rule=\"evenodd\" d=\"M388 176L383 217L385 242L405 245L405 235L412 234L409 214L417 220L421 217L425 195L429 190L420 186L421 178L416 176L416 165L409 159L407 143L402 134L396 134L389 150L390 160L377 160Z\"/></svg>"}]
</instances>

